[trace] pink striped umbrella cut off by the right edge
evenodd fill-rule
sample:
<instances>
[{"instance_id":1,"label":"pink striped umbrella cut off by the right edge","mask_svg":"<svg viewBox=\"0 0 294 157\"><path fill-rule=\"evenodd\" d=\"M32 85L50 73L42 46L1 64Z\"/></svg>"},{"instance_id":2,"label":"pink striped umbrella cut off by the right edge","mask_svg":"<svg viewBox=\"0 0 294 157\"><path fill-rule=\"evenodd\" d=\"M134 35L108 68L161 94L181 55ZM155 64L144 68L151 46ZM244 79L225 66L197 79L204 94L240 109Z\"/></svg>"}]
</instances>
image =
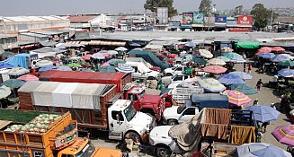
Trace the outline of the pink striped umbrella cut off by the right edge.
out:
<instances>
[{"instance_id":1,"label":"pink striped umbrella cut off by the right edge","mask_svg":"<svg viewBox=\"0 0 294 157\"><path fill-rule=\"evenodd\" d=\"M272 135L281 143L294 146L294 125L277 126Z\"/></svg>"}]
</instances>

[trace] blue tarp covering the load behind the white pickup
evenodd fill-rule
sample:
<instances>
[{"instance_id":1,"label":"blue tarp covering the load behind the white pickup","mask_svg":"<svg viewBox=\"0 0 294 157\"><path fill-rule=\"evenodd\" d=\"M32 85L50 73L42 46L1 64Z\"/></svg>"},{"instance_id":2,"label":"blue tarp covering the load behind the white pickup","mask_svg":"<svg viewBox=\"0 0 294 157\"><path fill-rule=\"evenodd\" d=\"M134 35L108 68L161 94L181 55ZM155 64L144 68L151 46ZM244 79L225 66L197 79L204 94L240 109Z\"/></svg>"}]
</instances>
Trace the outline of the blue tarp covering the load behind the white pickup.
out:
<instances>
[{"instance_id":1,"label":"blue tarp covering the load behind the white pickup","mask_svg":"<svg viewBox=\"0 0 294 157\"><path fill-rule=\"evenodd\" d=\"M217 108L227 109L228 99L226 95L220 95L218 93L203 93L192 94L192 105L200 104L200 109L203 108Z\"/></svg>"}]
</instances>

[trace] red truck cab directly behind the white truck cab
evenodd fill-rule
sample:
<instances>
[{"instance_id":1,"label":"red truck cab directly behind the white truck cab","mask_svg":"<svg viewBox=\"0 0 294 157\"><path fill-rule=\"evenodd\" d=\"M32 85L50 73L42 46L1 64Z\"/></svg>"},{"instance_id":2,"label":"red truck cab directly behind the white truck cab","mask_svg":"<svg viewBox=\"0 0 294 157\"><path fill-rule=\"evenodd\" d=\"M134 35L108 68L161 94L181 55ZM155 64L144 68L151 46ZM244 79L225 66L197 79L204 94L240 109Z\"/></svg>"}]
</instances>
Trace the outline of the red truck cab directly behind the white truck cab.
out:
<instances>
[{"instance_id":1,"label":"red truck cab directly behind the white truck cab","mask_svg":"<svg viewBox=\"0 0 294 157\"><path fill-rule=\"evenodd\" d=\"M157 120L162 118L165 104L158 95L146 94L144 87L133 86L124 93L125 100L131 100L136 110L149 114Z\"/></svg>"}]
</instances>

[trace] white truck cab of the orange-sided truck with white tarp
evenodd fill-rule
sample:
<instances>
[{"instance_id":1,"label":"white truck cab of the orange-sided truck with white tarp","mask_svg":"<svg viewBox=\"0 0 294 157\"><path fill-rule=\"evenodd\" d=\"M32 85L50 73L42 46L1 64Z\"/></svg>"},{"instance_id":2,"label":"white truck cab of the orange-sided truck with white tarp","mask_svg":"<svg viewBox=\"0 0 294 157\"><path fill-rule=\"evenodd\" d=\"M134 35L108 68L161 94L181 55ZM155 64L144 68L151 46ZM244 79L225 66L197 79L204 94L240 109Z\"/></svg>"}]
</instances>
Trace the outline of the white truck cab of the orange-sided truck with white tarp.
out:
<instances>
[{"instance_id":1,"label":"white truck cab of the orange-sided truck with white tarp","mask_svg":"<svg viewBox=\"0 0 294 157\"><path fill-rule=\"evenodd\" d=\"M130 100L117 100L108 109L109 138L121 140L134 137L147 143L147 134L155 127L155 119L137 111Z\"/></svg>"}]
</instances>

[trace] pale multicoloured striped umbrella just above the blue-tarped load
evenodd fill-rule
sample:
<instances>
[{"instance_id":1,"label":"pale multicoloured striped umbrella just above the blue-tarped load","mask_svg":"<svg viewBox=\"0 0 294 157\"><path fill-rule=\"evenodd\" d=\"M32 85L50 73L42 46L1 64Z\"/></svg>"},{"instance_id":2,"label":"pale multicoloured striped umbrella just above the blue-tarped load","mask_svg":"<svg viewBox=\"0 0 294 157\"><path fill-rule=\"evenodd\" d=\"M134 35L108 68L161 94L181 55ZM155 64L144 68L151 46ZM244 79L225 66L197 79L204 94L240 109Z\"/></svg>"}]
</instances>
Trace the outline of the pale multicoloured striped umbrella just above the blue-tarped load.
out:
<instances>
[{"instance_id":1,"label":"pale multicoloured striped umbrella just above the blue-tarped load","mask_svg":"<svg viewBox=\"0 0 294 157\"><path fill-rule=\"evenodd\" d=\"M213 78L203 79L198 83L200 84L200 87L209 92L223 92L226 90L226 87L223 84L219 83L218 80Z\"/></svg>"}]
</instances>

